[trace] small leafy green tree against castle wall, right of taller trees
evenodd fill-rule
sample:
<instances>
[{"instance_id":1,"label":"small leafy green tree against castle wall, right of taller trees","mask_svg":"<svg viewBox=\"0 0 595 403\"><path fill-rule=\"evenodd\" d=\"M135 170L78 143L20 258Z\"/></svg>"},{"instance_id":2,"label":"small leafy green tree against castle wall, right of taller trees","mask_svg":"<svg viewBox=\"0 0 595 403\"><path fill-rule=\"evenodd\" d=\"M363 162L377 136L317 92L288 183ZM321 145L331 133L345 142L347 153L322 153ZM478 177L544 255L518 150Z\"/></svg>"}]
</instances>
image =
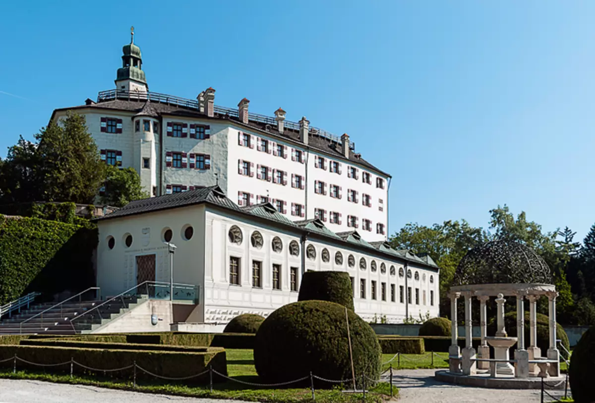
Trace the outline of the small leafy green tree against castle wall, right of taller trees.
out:
<instances>
[{"instance_id":1,"label":"small leafy green tree against castle wall, right of taller trees","mask_svg":"<svg viewBox=\"0 0 595 403\"><path fill-rule=\"evenodd\" d=\"M139 174L133 168L118 169L108 165L104 186L101 202L110 206L123 207L133 200L149 197L140 185Z\"/></svg>"}]
</instances>

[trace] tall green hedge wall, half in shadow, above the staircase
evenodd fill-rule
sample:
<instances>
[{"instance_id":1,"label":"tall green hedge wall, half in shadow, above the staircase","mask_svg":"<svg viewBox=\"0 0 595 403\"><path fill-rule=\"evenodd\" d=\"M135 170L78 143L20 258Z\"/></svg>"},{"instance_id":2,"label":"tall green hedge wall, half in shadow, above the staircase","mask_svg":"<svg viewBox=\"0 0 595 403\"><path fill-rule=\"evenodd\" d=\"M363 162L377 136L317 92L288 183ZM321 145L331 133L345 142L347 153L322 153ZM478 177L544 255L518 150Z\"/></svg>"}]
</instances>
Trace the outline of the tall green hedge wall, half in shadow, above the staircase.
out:
<instances>
[{"instance_id":1,"label":"tall green hedge wall, half in shadow, above the staircase","mask_svg":"<svg viewBox=\"0 0 595 403\"><path fill-rule=\"evenodd\" d=\"M0 215L0 304L32 291L51 298L93 286L92 227Z\"/></svg>"}]
</instances>

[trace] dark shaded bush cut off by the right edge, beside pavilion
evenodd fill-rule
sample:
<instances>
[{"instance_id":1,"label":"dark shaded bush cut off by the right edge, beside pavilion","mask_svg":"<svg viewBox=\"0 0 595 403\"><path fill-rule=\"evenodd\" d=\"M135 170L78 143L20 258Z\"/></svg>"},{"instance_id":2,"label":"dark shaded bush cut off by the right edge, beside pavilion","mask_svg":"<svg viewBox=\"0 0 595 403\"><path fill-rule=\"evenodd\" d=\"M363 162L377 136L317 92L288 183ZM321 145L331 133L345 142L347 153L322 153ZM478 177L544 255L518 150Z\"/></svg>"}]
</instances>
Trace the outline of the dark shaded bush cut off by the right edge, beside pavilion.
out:
<instances>
[{"instance_id":1,"label":"dark shaded bush cut off by the right edge, beside pavilion","mask_svg":"<svg viewBox=\"0 0 595 403\"><path fill-rule=\"evenodd\" d=\"M568 375L572 398L577 403L595 401L595 326L591 326L572 351Z\"/></svg>"}]
</instances>

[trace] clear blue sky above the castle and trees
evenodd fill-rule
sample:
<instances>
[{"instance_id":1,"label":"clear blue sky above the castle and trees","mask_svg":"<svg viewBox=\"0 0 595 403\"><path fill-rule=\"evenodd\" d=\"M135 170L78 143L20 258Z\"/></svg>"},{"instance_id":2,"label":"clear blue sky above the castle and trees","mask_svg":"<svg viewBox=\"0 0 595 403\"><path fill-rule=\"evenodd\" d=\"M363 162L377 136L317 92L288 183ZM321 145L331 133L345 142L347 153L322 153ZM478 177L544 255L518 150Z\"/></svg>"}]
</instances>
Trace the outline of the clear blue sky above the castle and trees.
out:
<instances>
[{"instance_id":1,"label":"clear blue sky above the castle and trees","mask_svg":"<svg viewBox=\"0 0 595 403\"><path fill-rule=\"evenodd\" d=\"M113 88L133 25L152 91L348 133L393 175L391 234L504 203L595 222L595 2L85 3L0 4L0 155Z\"/></svg>"}]
</instances>

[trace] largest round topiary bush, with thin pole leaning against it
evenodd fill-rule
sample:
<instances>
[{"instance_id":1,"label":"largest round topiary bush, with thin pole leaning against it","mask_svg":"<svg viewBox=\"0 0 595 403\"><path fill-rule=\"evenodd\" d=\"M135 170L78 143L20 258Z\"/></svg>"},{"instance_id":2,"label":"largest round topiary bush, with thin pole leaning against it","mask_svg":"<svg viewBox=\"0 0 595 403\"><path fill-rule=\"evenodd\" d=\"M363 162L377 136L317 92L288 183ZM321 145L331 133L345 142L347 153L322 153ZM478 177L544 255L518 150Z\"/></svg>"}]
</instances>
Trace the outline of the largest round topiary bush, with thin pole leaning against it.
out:
<instances>
[{"instance_id":1,"label":"largest round topiary bush, with thin pole leaning against it","mask_svg":"<svg viewBox=\"0 0 595 403\"><path fill-rule=\"evenodd\" d=\"M347 317L356 381L362 373L378 379L382 350L376 334L352 310L347 310ZM300 379L310 371L330 380L351 379L345 307L328 301L299 301L278 308L256 333L254 364L267 383ZM315 382L318 387L333 386Z\"/></svg>"}]
</instances>

